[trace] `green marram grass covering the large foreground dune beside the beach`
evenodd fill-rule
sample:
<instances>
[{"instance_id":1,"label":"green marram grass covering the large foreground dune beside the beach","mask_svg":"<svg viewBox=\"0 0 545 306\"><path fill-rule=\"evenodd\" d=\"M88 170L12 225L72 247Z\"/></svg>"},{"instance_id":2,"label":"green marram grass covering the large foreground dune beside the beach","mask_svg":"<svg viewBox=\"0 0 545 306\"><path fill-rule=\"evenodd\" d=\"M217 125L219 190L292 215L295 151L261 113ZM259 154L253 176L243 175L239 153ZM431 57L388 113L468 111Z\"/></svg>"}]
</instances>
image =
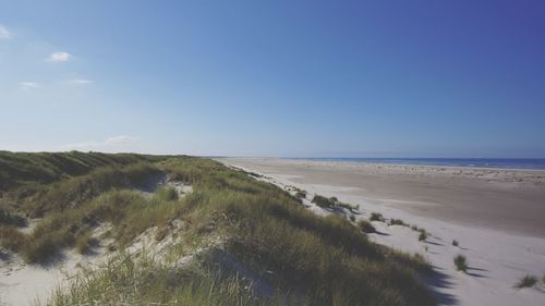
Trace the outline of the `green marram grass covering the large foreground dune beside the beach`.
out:
<instances>
[{"instance_id":1,"label":"green marram grass covering the large foreground dune beside the beach","mask_svg":"<svg viewBox=\"0 0 545 306\"><path fill-rule=\"evenodd\" d=\"M161 173L191 184L193 192L179 199L165 191L145 197L133 189L145 178ZM119 301L138 305L436 305L417 280L419 273L429 271L422 257L371 243L344 218L315 216L277 186L209 159L171 157L108 166L41 184L40 197L15 189L9 193L14 201L5 208L10 213L40 210L45 216L31 234L22 234L14 224L0 227L2 246L28 261L40 262L65 247L86 249L89 231L105 222L112 224L111 237L122 248L146 229L166 229L178 219L189 227L178 233L184 240L174 249L219 235L225 240L223 252L274 289L267 298L258 290L247 290L235 273L216 270L214 256L203 256L195 267L178 268L126 257L58 292L51 305L114 305Z\"/></svg>"}]
</instances>

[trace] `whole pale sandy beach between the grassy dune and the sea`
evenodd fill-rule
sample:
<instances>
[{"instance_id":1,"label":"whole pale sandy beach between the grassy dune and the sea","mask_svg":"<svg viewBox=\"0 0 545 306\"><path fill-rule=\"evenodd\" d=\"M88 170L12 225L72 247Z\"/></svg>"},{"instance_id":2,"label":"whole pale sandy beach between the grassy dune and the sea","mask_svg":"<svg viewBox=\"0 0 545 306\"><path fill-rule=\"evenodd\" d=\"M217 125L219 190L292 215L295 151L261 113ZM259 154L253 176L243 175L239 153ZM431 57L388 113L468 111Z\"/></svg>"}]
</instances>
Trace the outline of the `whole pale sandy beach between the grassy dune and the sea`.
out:
<instances>
[{"instance_id":1,"label":"whole pale sandy beach between the grassy dune and the sea","mask_svg":"<svg viewBox=\"0 0 545 306\"><path fill-rule=\"evenodd\" d=\"M543 283L514 289L525 274L545 274L545 171L372 164L275 158L227 158L221 162L261 173L279 186L336 196L360 205L361 215L425 228L419 242L408 227L373 222L371 238L420 253L437 274L426 280L441 305L545 305ZM306 205L312 205L305 200ZM312 206L318 213L330 213ZM458 247L451 245L457 240ZM468 273L452 259L468 258Z\"/></svg>"}]
</instances>

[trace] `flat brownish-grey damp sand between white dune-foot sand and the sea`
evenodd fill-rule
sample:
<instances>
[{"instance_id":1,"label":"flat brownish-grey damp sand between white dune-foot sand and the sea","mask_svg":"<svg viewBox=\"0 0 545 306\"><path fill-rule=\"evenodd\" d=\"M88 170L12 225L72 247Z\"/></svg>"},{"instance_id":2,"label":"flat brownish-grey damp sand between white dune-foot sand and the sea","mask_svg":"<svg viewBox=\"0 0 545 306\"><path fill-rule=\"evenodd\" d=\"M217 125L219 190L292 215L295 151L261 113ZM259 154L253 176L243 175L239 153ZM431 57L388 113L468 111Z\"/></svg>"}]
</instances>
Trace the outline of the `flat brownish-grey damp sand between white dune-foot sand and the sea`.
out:
<instances>
[{"instance_id":1,"label":"flat brownish-grey damp sand between white dune-foot sand and the sea","mask_svg":"<svg viewBox=\"0 0 545 306\"><path fill-rule=\"evenodd\" d=\"M332 185L375 205L510 234L545 237L545 171L227 158L228 164Z\"/></svg>"}]
</instances>

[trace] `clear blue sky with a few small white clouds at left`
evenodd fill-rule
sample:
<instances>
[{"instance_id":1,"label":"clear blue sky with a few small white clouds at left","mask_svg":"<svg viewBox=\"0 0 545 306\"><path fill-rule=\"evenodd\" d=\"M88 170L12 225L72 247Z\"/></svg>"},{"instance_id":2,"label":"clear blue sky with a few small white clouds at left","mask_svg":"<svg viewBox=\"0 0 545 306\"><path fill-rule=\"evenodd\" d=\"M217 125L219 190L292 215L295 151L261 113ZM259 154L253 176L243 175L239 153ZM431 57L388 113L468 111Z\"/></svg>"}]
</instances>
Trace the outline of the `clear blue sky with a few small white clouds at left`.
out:
<instances>
[{"instance_id":1,"label":"clear blue sky with a few small white clouds at left","mask_svg":"<svg viewBox=\"0 0 545 306\"><path fill-rule=\"evenodd\" d=\"M0 149L545 157L545 2L0 0Z\"/></svg>"}]
</instances>

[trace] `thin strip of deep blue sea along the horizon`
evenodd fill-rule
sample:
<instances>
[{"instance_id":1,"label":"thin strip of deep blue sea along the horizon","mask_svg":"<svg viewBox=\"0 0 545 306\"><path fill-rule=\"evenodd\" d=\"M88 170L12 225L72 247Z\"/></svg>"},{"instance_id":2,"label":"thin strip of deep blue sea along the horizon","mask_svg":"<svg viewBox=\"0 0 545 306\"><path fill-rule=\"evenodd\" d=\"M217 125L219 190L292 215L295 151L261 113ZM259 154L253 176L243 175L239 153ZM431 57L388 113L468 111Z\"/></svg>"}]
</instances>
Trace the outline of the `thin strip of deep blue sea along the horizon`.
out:
<instances>
[{"instance_id":1,"label":"thin strip of deep blue sea along the horizon","mask_svg":"<svg viewBox=\"0 0 545 306\"><path fill-rule=\"evenodd\" d=\"M545 170L545 158L298 158L325 161L354 161L391 164L477 167Z\"/></svg>"}]
</instances>

